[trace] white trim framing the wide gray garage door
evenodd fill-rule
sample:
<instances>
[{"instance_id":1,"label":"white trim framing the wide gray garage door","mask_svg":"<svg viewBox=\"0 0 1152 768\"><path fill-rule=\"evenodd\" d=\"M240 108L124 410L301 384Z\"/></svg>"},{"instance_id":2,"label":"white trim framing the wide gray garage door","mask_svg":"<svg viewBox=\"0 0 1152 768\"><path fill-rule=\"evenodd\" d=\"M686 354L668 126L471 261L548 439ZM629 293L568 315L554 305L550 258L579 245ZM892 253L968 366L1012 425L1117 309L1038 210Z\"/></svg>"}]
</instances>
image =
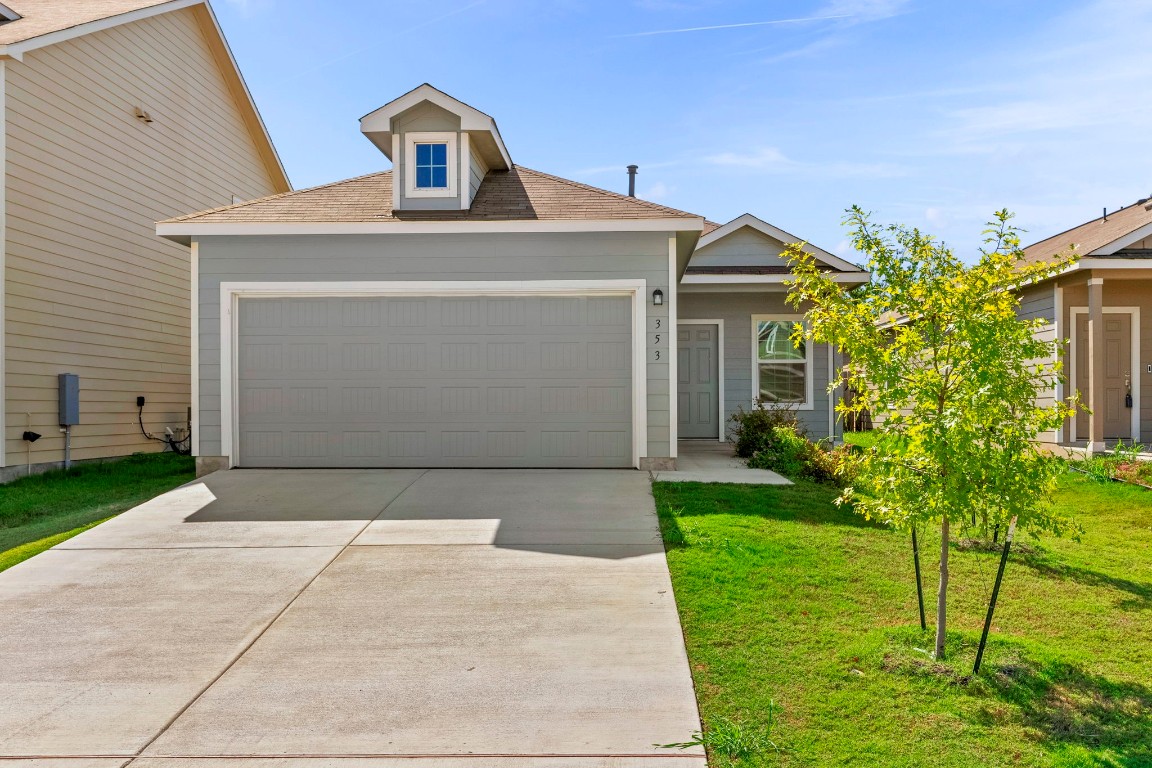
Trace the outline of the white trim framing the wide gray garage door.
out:
<instances>
[{"instance_id":1,"label":"white trim framing the wide gray garage door","mask_svg":"<svg viewBox=\"0 0 1152 768\"><path fill-rule=\"evenodd\" d=\"M517 280L396 282L222 282L220 283L220 448L236 465L240 390L236 339L241 298L316 298L386 296L621 296L632 301L632 466L639 469L647 447L647 281Z\"/></svg>"}]
</instances>

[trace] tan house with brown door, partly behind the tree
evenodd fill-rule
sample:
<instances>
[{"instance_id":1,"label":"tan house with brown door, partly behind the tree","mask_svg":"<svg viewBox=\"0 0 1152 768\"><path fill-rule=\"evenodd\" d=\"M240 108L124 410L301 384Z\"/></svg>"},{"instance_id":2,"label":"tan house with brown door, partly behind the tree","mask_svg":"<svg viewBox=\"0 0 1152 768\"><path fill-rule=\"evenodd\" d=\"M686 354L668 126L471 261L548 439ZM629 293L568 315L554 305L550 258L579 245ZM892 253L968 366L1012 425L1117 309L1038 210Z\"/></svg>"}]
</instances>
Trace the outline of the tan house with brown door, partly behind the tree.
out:
<instances>
[{"instance_id":1,"label":"tan house with brown door, partly behind the tree","mask_svg":"<svg viewBox=\"0 0 1152 768\"><path fill-rule=\"evenodd\" d=\"M1049 339L1066 339L1067 385L1081 412L1046 439L1101 450L1116 440L1152 440L1152 200L1108 213L1030 245L1029 261L1048 261L1073 248L1079 261L1061 275L1021 291L1023 317L1043 319ZM1049 401L1051 402L1051 401Z\"/></svg>"}]
</instances>

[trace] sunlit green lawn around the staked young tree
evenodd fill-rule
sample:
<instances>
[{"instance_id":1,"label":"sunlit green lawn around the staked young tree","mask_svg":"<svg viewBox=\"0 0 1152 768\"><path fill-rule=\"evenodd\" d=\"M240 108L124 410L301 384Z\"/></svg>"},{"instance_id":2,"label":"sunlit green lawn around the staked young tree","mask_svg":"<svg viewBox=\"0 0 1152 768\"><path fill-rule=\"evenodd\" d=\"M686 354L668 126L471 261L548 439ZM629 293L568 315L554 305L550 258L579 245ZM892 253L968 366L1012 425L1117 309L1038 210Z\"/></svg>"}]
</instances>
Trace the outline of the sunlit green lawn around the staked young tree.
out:
<instances>
[{"instance_id":1,"label":"sunlit green lawn around the staked young tree","mask_svg":"<svg viewBox=\"0 0 1152 768\"><path fill-rule=\"evenodd\" d=\"M954 548L949 657L931 660L939 538L911 546L811 484L657 484L706 728L786 747L748 766L1152 766L1152 492L1069 474L1081 542L1028 537L968 679L998 556ZM712 765L728 761L712 755Z\"/></svg>"}]
</instances>

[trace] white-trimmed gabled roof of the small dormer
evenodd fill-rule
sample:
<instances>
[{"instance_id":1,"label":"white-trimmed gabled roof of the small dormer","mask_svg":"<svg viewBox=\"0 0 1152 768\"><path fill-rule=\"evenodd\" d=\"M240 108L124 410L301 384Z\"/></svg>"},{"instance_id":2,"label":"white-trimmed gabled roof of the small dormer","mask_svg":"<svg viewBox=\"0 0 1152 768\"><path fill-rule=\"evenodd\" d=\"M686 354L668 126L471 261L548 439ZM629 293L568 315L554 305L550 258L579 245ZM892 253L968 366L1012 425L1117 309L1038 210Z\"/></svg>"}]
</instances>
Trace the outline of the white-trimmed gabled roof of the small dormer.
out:
<instances>
[{"instance_id":1,"label":"white-trimmed gabled roof of the small dormer","mask_svg":"<svg viewBox=\"0 0 1152 768\"><path fill-rule=\"evenodd\" d=\"M461 132L469 135L473 151L484 159L490 169L509 170L513 167L508 147L505 146L503 138L500 137L500 129L497 128L497 121L491 115L470 107L427 83L361 117L361 131L376 144L377 149L384 152L385 157L395 162L396 158L392 157L392 137L396 132L395 120L412 107L425 102L435 105L460 117Z\"/></svg>"}]
</instances>

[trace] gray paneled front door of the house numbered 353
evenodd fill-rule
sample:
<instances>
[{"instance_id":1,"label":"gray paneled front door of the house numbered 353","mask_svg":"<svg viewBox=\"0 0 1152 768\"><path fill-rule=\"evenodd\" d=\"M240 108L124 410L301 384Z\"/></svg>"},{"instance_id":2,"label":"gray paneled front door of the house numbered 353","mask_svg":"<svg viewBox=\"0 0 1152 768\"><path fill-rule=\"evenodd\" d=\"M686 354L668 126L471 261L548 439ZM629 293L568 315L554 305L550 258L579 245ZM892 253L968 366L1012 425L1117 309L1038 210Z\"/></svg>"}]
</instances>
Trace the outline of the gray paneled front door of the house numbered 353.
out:
<instances>
[{"instance_id":1,"label":"gray paneled front door of the house numbered 353","mask_svg":"<svg viewBox=\"0 0 1152 768\"><path fill-rule=\"evenodd\" d=\"M677 334L681 438L720 438L720 327L681 324Z\"/></svg>"}]
</instances>

